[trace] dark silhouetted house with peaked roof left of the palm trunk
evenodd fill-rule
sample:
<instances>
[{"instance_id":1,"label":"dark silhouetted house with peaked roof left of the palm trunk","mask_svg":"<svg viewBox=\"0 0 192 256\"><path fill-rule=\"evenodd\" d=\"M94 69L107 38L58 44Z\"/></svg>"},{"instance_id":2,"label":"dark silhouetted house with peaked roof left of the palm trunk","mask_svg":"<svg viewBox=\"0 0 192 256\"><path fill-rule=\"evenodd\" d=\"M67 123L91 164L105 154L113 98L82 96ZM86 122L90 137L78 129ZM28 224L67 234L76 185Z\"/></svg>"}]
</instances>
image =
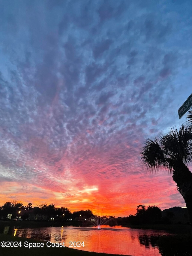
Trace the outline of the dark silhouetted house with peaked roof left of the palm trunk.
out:
<instances>
[{"instance_id":1,"label":"dark silhouetted house with peaked roof left of the palm trunk","mask_svg":"<svg viewBox=\"0 0 192 256\"><path fill-rule=\"evenodd\" d=\"M162 214L162 218L167 217L169 221L173 224L189 223L187 208L175 206L175 207L163 210L161 214Z\"/></svg>"}]
</instances>

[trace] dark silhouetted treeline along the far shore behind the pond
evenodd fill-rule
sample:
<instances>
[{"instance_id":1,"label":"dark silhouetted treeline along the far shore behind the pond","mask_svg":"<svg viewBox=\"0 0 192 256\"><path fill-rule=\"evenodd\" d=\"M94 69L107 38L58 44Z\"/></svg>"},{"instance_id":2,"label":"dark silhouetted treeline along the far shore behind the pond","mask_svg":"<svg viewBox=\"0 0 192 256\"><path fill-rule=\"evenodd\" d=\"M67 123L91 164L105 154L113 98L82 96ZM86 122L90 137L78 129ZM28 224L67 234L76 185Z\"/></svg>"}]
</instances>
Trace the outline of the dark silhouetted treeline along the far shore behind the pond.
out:
<instances>
[{"instance_id":1,"label":"dark silhouetted treeline along the far shore behind the pond","mask_svg":"<svg viewBox=\"0 0 192 256\"><path fill-rule=\"evenodd\" d=\"M30 218L29 218L30 216ZM42 218L35 218L36 216L44 216ZM0 206L0 219L13 219L22 218L23 220L79 220L88 221L91 218L93 212L91 210L80 210L71 212L66 207L56 208L53 203L40 204L38 206L33 206L32 203L23 205L20 202L6 202L4 205ZM102 216L102 218L114 219L113 216ZM113 224L127 225L127 224L154 224L159 223L161 220L161 209L157 206L145 205L137 206L137 212L135 215L129 215L128 217L116 218Z\"/></svg>"}]
</instances>

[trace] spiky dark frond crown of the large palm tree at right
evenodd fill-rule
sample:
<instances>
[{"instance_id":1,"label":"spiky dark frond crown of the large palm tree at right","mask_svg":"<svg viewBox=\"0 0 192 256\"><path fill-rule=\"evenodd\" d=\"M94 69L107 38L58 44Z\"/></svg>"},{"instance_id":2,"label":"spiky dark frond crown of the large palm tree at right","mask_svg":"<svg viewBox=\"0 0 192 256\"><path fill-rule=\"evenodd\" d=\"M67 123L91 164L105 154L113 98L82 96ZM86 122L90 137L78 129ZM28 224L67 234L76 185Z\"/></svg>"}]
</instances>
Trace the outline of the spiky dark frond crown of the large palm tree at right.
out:
<instances>
[{"instance_id":1,"label":"spiky dark frond crown of the large palm tree at right","mask_svg":"<svg viewBox=\"0 0 192 256\"><path fill-rule=\"evenodd\" d=\"M192 126L171 128L159 140L147 139L140 155L143 164L155 171L159 167L172 171L178 165L188 164L192 161Z\"/></svg>"}]
</instances>

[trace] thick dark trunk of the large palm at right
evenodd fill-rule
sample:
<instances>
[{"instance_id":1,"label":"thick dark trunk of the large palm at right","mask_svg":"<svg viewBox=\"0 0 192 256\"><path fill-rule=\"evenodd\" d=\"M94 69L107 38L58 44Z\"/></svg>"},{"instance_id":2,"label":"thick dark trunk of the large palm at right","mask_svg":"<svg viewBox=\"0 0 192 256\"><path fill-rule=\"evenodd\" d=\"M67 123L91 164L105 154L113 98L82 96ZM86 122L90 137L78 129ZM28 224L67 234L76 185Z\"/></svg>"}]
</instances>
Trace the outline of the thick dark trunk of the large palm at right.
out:
<instances>
[{"instance_id":1,"label":"thick dark trunk of the large palm at right","mask_svg":"<svg viewBox=\"0 0 192 256\"><path fill-rule=\"evenodd\" d=\"M177 184L177 190L185 200L192 232L192 173L184 163L180 162L174 167L172 177Z\"/></svg>"}]
</instances>

